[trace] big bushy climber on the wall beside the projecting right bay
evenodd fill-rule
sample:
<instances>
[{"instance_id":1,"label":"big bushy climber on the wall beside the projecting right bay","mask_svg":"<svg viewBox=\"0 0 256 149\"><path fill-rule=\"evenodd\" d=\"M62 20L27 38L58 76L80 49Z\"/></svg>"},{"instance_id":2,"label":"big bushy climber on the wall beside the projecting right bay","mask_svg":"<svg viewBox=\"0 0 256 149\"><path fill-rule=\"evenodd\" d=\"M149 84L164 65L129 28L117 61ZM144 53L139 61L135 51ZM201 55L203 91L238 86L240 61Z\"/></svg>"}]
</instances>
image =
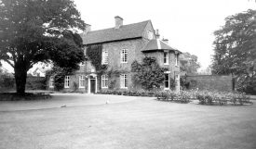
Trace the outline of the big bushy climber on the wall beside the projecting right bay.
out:
<instances>
[{"instance_id":1,"label":"big bushy climber on the wall beside the projecting right bay","mask_svg":"<svg viewBox=\"0 0 256 149\"><path fill-rule=\"evenodd\" d=\"M155 57L144 57L142 63L134 61L131 64L131 71L134 72L132 80L141 83L145 90L160 88L165 80L165 71L167 68L160 68Z\"/></svg>"}]
</instances>

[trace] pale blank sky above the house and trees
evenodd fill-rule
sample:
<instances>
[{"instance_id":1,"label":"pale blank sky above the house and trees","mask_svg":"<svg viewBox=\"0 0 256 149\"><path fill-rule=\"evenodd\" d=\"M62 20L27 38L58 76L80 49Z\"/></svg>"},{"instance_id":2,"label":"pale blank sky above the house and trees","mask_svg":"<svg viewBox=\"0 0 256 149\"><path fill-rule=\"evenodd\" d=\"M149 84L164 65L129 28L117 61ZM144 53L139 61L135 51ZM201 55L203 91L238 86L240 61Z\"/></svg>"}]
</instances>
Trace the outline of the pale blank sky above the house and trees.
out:
<instances>
[{"instance_id":1,"label":"pale blank sky above the house and trees","mask_svg":"<svg viewBox=\"0 0 256 149\"><path fill-rule=\"evenodd\" d=\"M224 19L236 13L256 9L254 0L74 0L81 18L91 30L113 28L115 16L124 25L151 19L160 38L182 52L198 57L201 69L211 63L213 32ZM9 71L13 70L4 63Z\"/></svg>"}]
</instances>

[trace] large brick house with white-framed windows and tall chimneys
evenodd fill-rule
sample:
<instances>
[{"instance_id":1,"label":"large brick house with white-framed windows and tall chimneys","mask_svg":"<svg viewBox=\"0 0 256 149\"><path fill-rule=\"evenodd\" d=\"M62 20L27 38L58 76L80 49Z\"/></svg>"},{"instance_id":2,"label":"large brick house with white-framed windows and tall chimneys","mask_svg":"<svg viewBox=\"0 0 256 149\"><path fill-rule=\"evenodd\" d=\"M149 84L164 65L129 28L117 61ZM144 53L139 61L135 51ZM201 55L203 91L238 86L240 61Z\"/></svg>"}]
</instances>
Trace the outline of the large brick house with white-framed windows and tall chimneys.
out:
<instances>
[{"instance_id":1,"label":"large brick house with white-framed windows and tall chimneys","mask_svg":"<svg viewBox=\"0 0 256 149\"><path fill-rule=\"evenodd\" d=\"M101 65L107 69L100 73L88 58L74 75L65 76L64 90L73 91L76 88L85 93L97 93L101 90L139 90L140 85L132 81L131 64L139 63L145 56L153 56L166 71L163 90L169 90L169 81L176 81L176 90L180 90L180 51L168 45L168 40L160 40L158 31L154 30L151 20L123 25L121 17L115 17L115 27L99 31L91 31L87 25L81 34L88 49L101 49ZM99 59L98 59L99 60ZM112 75L110 72L113 72ZM114 75L113 75L114 74ZM49 80L53 88L53 78Z\"/></svg>"}]
</instances>

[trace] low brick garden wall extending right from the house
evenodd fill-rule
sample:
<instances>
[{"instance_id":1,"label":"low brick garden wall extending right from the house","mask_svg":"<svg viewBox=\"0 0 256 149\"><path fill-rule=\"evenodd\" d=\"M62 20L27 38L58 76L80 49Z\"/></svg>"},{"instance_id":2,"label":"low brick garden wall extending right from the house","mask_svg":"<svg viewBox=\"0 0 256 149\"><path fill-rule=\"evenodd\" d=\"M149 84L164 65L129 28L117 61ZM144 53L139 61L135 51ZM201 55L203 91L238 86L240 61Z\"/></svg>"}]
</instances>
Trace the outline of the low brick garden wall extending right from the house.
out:
<instances>
[{"instance_id":1,"label":"low brick garden wall extending right from the house","mask_svg":"<svg viewBox=\"0 0 256 149\"><path fill-rule=\"evenodd\" d=\"M187 76L190 82L189 89L211 90L211 91L233 91L232 76L219 75L196 75Z\"/></svg>"}]
</instances>

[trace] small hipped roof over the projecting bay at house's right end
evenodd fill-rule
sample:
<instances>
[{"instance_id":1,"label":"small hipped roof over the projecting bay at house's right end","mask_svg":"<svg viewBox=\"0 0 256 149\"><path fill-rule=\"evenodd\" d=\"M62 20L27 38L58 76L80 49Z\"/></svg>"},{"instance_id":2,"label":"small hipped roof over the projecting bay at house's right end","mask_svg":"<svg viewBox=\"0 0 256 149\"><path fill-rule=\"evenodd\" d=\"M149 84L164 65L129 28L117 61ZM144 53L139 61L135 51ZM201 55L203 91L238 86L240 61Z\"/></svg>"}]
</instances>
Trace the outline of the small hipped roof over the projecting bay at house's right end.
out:
<instances>
[{"instance_id":1,"label":"small hipped roof over the projecting bay at house's right end","mask_svg":"<svg viewBox=\"0 0 256 149\"><path fill-rule=\"evenodd\" d=\"M169 46L168 43L165 43L159 39L153 39L149 41L149 43L147 43L141 51L150 52L150 51L158 51L158 50L177 51L181 53L179 50Z\"/></svg>"}]
</instances>

